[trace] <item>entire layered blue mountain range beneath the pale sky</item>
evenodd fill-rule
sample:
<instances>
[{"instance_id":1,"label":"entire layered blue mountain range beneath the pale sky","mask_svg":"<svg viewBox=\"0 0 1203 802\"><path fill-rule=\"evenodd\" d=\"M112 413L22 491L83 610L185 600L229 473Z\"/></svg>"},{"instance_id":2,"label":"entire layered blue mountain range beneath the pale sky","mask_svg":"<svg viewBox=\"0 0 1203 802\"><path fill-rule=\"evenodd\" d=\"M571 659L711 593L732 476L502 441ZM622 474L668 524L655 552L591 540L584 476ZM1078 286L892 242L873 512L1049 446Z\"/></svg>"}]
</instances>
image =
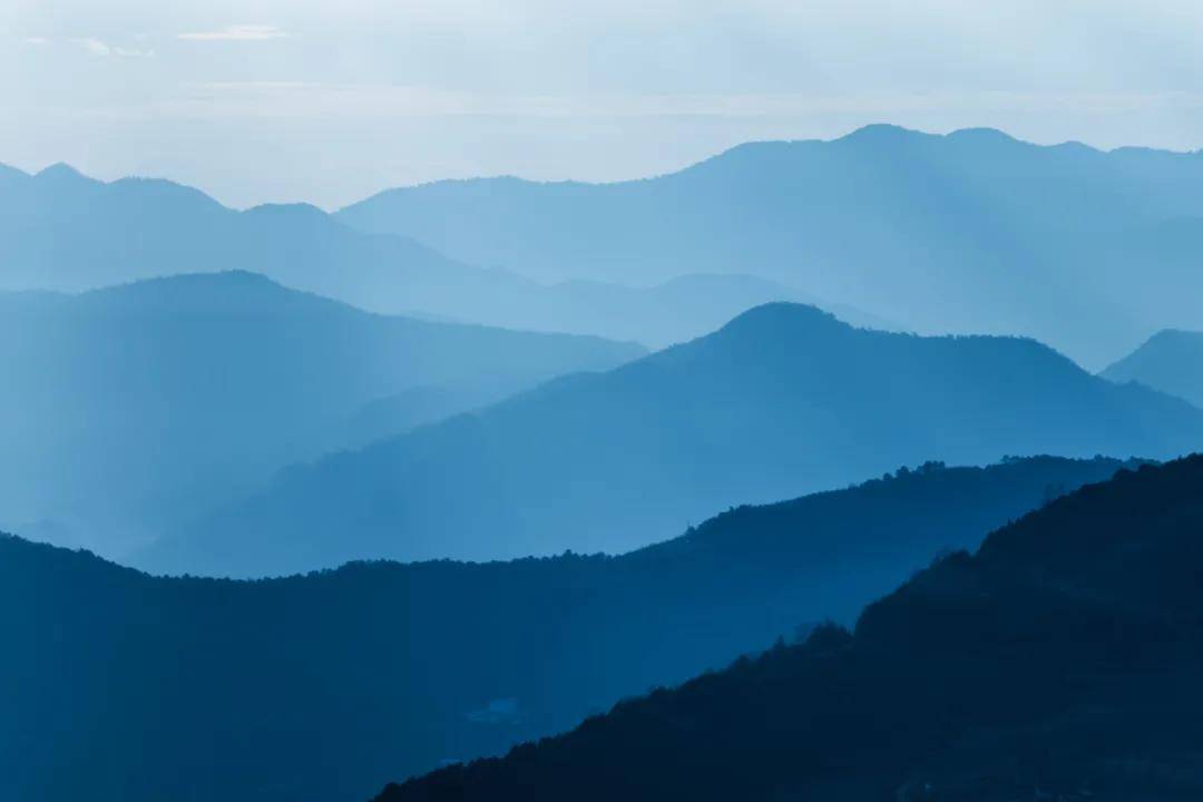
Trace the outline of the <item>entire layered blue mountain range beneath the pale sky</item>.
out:
<instances>
[{"instance_id":1,"label":"entire layered blue mountain range beneath the pale sky","mask_svg":"<svg viewBox=\"0 0 1203 802\"><path fill-rule=\"evenodd\" d=\"M1201 186L0 165L0 802L1203 798Z\"/></svg>"}]
</instances>

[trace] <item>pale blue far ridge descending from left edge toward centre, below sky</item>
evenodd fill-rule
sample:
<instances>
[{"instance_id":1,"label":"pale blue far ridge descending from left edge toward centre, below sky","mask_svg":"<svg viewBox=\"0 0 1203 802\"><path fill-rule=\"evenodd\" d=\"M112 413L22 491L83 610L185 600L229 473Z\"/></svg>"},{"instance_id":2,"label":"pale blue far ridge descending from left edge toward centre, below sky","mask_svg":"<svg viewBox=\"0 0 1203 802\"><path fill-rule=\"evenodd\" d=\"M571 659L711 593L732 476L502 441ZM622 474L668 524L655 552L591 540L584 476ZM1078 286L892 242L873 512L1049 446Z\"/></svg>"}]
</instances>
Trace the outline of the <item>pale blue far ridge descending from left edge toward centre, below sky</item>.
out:
<instances>
[{"instance_id":1,"label":"pale blue far ridge descending from left edge toward centre, below sky","mask_svg":"<svg viewBox=\"0 0 1203 802\"><path fill-rule=\"evenodd\" d=\"M239 213L170 182L106 184L66 165L37 176L7 168L0 212L0 290L81 291L237 268L369 311L599 334L657 347L770 301L820 303L780 283L731 275L730 268L650 289L595 281L546 286L446 259L405 237L361 233L313 206ZM830 309L849 322L883 325L848 305Z\"/></svg>"}]
</instances>

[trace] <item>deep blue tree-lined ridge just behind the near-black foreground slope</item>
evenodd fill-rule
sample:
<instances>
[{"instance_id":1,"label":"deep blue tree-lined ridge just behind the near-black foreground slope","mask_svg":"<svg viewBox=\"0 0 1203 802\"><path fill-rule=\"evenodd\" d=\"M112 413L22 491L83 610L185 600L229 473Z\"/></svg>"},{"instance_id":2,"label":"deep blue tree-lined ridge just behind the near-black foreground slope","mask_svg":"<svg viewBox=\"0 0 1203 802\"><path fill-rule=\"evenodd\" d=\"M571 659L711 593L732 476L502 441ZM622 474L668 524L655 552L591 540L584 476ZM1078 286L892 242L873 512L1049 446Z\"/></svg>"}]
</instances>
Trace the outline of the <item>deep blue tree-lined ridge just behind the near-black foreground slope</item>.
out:
<instances>
[{"instance_id":1,"label":"deep blue tree-lined ridge just behind the near-black foreground slope","mask_svg":"<svg viewBox=\"0 0 1203 802\"><path fill-rule=\"evenodd\" d=\"M618 558L249 583L0 539L0 798L366 800L793 640L818 611L851 622L937 549L1119 467L928 465Z\"/></svg>"}]
</instances>

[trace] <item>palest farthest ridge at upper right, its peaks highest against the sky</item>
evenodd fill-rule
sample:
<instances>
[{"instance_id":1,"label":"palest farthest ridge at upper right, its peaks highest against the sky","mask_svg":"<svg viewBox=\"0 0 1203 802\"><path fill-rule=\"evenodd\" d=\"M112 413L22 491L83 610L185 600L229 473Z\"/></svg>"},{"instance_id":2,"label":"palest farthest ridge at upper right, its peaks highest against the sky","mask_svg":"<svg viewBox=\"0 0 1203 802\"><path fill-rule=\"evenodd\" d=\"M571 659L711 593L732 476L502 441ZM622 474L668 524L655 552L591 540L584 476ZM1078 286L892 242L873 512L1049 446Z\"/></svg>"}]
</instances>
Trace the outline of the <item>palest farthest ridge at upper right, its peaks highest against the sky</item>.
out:
<instances>
[{"instance_id":1,"label":"palest farthest ridge at upper right, its peaks highest against the sky","mask_svg":"<svg viewBox=\"0 0 1203 802\"><path fill-rule=\"evenodd\" d=\"M1036 337L1098 368L1158 328L1203 327L1201 185L1201 153L878 125L645 180L390 190L338 218L543 280L749 273L918 331Z\"/></svg>"}]
</instances>

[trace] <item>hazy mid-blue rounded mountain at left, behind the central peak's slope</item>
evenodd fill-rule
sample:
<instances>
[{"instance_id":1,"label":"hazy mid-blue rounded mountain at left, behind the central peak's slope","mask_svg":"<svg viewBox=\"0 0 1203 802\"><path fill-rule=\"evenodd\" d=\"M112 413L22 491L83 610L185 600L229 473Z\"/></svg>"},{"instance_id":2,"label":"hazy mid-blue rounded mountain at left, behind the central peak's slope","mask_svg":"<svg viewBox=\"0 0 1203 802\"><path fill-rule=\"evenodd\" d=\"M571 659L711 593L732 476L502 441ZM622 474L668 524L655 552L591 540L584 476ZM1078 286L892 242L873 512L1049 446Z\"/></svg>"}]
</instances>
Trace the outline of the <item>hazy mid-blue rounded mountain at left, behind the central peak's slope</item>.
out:
<instances>
[{"instance_id":1,"label":"hazy mid-blue rounded mountain at left, behind the central peak's slope","mask_svg":"<svg viewBox=\"0 0 1203 802\"><path fill-rule=\"evenodd\" d=\"M112 554L342 445L369 402L515 392L641 354L371 315L250 273L0 293L0 516Z\"/></svg>"}]
</instances>

